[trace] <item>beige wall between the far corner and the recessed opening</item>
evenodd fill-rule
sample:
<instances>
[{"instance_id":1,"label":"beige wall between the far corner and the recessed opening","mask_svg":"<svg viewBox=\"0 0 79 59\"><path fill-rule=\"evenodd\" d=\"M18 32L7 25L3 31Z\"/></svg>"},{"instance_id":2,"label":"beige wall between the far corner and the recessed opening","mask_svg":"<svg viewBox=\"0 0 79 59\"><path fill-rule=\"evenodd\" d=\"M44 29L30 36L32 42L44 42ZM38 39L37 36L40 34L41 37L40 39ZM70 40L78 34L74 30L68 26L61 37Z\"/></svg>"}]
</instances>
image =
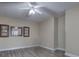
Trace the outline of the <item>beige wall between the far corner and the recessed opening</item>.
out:
<instances>
[{"instance_id":1,"label":"beige wall between the far corner and the recessed opening","mask_svg":"<svg viewBox=\"0 0 79 59\"><path fill-rule=\"evenodd\" d=\"M54 17L40 23L41 46L54 48Z\"/></svg>"}]
</instances>

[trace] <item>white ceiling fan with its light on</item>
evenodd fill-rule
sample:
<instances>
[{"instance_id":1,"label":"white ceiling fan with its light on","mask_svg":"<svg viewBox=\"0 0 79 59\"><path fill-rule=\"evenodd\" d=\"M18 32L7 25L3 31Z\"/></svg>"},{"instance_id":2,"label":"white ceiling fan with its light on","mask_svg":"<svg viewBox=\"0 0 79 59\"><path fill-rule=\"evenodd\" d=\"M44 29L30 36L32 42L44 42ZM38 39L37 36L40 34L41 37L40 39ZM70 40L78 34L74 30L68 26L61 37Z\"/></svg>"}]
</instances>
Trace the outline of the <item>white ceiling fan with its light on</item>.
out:
<instances>
[{"instance_id":1,"label":"white ceiling fan with its light on","mask_svg":"<svg viewBox=\"0 0 79 59\"><path fill-rule=\"evenodd\" d=\"M39 8L43 7L43 6L39 6L37 5L36 2L30 2L30 3L27 3L28 7L27 8L21 8L21 9L24 9L24 10L28 10L28 15L34 15L34 14L42 14L41 11L39 11Z\"/></svg>"}]
</instances>

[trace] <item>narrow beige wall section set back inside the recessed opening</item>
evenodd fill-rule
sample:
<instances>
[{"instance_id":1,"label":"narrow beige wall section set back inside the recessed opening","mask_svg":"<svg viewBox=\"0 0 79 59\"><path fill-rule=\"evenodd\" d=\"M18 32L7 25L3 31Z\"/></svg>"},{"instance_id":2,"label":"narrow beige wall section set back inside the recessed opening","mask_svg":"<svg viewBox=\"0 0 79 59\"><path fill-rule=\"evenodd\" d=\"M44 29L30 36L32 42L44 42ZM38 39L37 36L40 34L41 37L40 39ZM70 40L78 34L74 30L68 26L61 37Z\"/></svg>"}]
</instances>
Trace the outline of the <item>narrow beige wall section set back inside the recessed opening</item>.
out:
<instances>
[{"instance_id":1,"label":"narrow beige wall section set back inside the recessed opening","mask_svg":"<svg viewBox=\"0 0 79 59\"><path fill-rule=\"evenodd\" d=\"M65 49L65 16L58 17L58 48Z\"/></svg>"}]
</instances>

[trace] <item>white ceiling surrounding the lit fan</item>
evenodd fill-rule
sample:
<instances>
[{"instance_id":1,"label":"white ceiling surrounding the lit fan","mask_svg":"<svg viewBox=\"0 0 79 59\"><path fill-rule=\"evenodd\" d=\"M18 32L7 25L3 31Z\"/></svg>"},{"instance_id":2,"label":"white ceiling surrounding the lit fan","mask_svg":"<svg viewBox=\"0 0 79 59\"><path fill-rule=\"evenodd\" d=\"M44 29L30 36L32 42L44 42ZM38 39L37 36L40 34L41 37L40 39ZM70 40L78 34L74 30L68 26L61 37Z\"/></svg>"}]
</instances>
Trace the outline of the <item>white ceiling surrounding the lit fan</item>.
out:
<instances>
[{"instance_id":1,"label":"white ceiling surrounding the lit fan","mask_svg":"<svg viewBox=\"0 0 79 59\"><path fill-rule=\"evenodd\" d=\"M27 8L27 2L6 2L0 3L0 15L12 18L31 20L40 22L42 20L48 19L51 15L60 16L64 14L64 10L68 10L74 6L78 6L78 2L37 2L37 5L43 6L40 11L43 12L42 15L35 14L32 16L27 16L28 10L21 10L20 8Z\"/></svg>"}]
</instances>

